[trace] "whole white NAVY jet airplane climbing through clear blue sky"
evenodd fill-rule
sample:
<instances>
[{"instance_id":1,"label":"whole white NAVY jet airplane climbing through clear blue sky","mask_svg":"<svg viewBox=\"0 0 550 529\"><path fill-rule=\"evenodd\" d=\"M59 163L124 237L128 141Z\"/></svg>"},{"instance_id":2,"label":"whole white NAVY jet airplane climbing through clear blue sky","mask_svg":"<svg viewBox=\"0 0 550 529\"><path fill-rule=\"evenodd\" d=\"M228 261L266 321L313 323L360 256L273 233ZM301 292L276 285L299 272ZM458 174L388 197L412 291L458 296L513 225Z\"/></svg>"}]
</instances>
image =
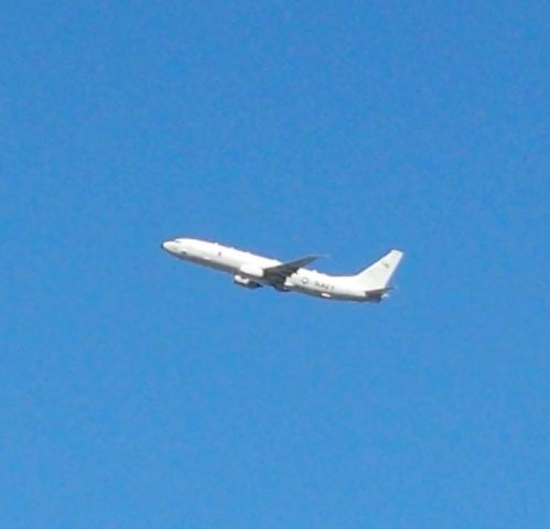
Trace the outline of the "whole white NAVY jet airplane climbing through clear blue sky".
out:
<instances>
[{"instance_id":1,"label":"whole white NAVY jet airplane climbing through clear blue sky","mask_svg":"<svg viewBox=\"0 0 550 529\"><path fill-rule=\"evenodd\" d=\"M281 292L294 291L326 300L379 302L391 290L388 287L399 261L400 250L390 250L378 261L355 276L327 276L305 267L320 256L295 261L276 259L199 239L173 239L161 247L179 259L233 274L234 282L247 289L270 285Z\"/></svg>"}]
</instances>

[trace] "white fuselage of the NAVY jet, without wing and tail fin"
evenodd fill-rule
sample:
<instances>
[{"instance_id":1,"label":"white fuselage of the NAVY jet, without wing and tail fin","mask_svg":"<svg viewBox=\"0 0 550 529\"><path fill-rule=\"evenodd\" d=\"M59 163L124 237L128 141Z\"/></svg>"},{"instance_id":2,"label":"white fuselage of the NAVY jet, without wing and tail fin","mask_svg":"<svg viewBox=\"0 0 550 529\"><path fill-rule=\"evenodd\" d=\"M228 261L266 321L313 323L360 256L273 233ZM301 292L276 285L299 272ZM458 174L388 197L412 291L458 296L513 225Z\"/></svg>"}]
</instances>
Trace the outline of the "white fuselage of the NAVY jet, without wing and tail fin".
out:
<instances>
[{"instance_id":1,"label":"white fuselage of the NAVY jet, without wing and tail fin","mask_svg":"<svg viewBox=\"0 0 550 529\"><path fill-rule=\"evenodd\" d=\"M177 238L162 244L162 248L184 261L202 264L234 276L235 282L248 288L269 284L280 291L294 291L327 300L374 300L353 276L328 276L300 268L280 283L262 277L262 270L283 264L277 259L239 250L201 239Z\"/></svg>"}]
</instances>

